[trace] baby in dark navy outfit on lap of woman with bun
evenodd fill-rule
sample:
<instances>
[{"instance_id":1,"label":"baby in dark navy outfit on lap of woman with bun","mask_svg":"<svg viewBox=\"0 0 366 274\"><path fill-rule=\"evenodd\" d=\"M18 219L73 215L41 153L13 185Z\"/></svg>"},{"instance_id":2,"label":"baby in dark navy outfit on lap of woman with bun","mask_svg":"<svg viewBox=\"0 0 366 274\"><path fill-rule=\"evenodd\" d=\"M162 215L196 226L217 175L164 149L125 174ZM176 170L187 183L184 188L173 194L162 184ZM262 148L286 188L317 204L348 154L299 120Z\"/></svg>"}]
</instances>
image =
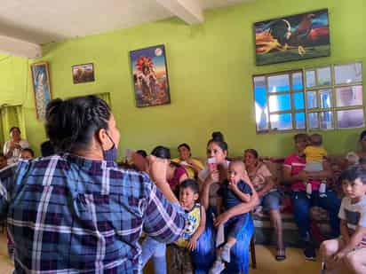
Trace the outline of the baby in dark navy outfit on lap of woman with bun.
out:
<instances>
[{"instance_id":1,"label":"baby in dark navy outfit on lap of woman with bun","mask_svg":"<svg viewBox=\"0 0 366 274\"><path fill-rule=\"evenodd\" d=\"M251 200L251 194L253 192L252 186L245 183L244 180L248 180L248 176L243 161L232 161L228 168L227 181L220 186L218 191L218 214L221 213L221 209L227 211L232 207ZM220 273L225 269L225 262L230 262L230 249L231 247L234 247L236 238L243 229L247 217L248 213L236 215L224 224L227 229L226 243L224 227L222 225L219 226L216 239L216 247L219 247L219 249L217 251L216 261L213 263L210 270L211 274Z\"/></svg>"}]
</instances>

